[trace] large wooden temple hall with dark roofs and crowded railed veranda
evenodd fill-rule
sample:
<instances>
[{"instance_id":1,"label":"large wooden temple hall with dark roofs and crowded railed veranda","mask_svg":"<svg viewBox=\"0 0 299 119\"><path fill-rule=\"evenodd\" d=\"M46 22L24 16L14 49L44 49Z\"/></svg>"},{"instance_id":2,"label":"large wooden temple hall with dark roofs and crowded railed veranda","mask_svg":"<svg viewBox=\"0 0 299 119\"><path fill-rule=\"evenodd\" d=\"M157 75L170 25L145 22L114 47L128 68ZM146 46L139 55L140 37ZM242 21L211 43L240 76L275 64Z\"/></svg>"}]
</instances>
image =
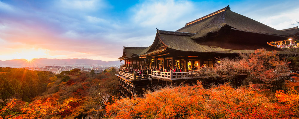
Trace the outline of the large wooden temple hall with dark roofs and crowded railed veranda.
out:
<instances>
[{"instance_id":1,"label":"large wooden temple hall with dark roofs and crowded railed veranda","mask_svg":"<svg viewBox=\"0 0 299 119\"><path fill-rule=\"evenodd\" d=\"M231 11L227 6L188 22L176 31L157 29L155 39L149 47L124 47L120 60L125 68L183 68L184 72L151 71L146 75L119 71L120 86L125 96L141 95L151 84L173 84L209 78L197 69L200 66L213 67L216 58L237 57L239 53L252 53L259 48L268 51L281 48L267 42L292 39L294 34L276 30L251 18Z\"/></svg>"}]
</instances>

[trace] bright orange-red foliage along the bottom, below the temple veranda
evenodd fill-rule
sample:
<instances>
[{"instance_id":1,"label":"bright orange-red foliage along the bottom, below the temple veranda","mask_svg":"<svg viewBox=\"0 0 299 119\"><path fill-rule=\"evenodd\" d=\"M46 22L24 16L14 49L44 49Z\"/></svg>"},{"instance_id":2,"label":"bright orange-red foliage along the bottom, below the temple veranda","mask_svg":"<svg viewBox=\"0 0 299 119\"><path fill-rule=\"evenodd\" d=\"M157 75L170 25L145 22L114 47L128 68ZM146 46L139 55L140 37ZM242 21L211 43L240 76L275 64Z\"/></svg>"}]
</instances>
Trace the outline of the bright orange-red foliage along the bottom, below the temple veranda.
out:
<instances>
[{"instance_id":1,"label":"bright orange-red foliage along the bottom, below the temple veranda","mask_svg":"<svg viewBox=\"0 0 299 119\"><path fill-rule=\"evenodd\" d=\"M277 93L280 94L280 93ZM280 94L281 95L281 94ZM298 94L296 94L298 96ZM291 118L293 107L272 102L259 90L232 88L228 84L204 89L195 86L165 87L145 98L121 98L106 107L115 118ZM278 98L281 100L280 98ZM282 100L283 101L283 100ZM292 100L295 101L295 100ZM285 103L285 102L284 102ZM294 104L294 103L293 103ZM298 103L299 104L299 103Z\"/></svg>"}]
</instances>

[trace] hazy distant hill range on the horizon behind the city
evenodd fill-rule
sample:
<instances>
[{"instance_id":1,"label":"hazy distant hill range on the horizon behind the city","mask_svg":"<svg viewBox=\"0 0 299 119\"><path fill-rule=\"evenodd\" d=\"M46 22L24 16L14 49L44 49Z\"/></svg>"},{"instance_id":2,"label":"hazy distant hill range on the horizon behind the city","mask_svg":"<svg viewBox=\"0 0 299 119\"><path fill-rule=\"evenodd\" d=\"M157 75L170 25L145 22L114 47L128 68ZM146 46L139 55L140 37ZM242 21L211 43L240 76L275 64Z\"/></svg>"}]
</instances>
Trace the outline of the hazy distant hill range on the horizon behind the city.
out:
<instances>
[{"instance_id":1,"label":"hazy distant hill range on the horizon behind the city","mask_svg":"<svg viewBox=\"0 0 299 119\"><path fill-rule=\"evenodd\" d=\"M102 60L91 60L91 59L47 59L47 58L40 58L40 59L32 59L31 61L25 59L16 59L16 60L0 60L0 67L1 66L25 66L25 65L119 65L120 61L102 61Z\"/></svg>"}]
</instances>

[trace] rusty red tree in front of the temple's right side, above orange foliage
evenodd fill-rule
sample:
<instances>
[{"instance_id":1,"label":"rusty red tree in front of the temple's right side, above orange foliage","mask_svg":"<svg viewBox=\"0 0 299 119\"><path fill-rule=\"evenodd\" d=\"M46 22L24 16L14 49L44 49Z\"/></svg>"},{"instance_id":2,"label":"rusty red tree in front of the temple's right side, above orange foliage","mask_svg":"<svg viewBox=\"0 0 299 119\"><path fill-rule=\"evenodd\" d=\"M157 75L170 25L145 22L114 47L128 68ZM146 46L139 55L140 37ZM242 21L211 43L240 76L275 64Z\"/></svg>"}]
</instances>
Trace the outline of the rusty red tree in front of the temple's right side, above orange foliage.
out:
<instances>
[{"instance_id":1,"label":"rusty red tree in front of the temple's right side, above orange foliage","mask_svg":"<svg viewBox=\"0 0 299 119\"><path fill-rule=\"evenodd\" d=\"M282 89L288 72L286 60L280 60L277 51L266 51L257 49L251 54L239 54L239 58L219 58L213 70L210 72L216 78L231 82L235 87L237 84L261 84L263 88ZM238 75L246 74L247 78L240 79Z\"/></svg>"}]
</instances>

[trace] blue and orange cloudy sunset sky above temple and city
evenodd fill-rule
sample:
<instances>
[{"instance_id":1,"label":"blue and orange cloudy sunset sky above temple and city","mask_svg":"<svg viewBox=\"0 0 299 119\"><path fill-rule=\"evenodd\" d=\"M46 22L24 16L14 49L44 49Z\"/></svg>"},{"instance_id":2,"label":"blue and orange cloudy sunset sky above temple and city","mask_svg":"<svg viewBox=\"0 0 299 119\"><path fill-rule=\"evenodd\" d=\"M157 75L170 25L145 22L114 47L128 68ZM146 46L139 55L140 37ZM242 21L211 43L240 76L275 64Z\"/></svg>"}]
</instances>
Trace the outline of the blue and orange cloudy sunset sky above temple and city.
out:
<instances>
[{"instance_id":1,"label":"blue and orange cloudy sunset sky above temple and city","mask_svg":"<svg viewBox=\"0 0 299 119\"><path fill-rule=\"evenodd\" d=\"M123 46L151 45L156 28L175 31L228 4L274 29L298 26L289 22L299 20L299 0L0 0L0 60L118 60Z\"/></svg>"}]
</instances>

